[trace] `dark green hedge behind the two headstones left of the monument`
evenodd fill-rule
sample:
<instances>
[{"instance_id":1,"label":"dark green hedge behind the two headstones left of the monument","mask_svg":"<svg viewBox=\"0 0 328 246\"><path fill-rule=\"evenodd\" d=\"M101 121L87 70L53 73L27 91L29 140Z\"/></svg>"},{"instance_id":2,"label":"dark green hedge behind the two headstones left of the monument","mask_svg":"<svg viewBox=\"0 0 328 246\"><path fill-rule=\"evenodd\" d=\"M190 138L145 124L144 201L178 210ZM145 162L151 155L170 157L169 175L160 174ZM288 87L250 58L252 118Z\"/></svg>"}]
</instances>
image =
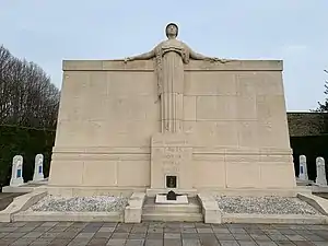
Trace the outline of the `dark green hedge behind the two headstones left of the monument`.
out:
<instances>
[{"instance_id":1,"label":"dark green hedge behind the two headstones left of the monument","mask_svg":"<svg viewBox=\"0 0 328 246\"><path fill-rule=\"evenodd\" d=\"M9 185L12 159L17 154L24 159L24 181L33 179L34 160L38 153L44 154L44 174L47 177L55 134L55 130L0 126L0 187Z\"/></svg>"}]
</instances>

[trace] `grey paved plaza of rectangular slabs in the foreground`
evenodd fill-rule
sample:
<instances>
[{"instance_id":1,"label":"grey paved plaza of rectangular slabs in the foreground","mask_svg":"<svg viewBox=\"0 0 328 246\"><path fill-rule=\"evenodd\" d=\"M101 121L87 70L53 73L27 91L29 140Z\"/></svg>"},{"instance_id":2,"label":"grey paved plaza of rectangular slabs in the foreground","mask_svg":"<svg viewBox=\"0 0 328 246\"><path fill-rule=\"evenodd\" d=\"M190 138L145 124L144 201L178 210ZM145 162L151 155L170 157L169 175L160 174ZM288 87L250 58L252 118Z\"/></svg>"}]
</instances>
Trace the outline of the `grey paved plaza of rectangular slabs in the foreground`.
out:
<instances>
[{"instance_id":1,"label":"grey paved plaza of rectangular slabs in the foreground","mask_svg":"<svg viewBox=\"0 0 328 246\"><path fill-rule=\"evenodd\" d=\"M328 245L328 225L0 223L0 245Z\"/></svg>"}]
</instances>

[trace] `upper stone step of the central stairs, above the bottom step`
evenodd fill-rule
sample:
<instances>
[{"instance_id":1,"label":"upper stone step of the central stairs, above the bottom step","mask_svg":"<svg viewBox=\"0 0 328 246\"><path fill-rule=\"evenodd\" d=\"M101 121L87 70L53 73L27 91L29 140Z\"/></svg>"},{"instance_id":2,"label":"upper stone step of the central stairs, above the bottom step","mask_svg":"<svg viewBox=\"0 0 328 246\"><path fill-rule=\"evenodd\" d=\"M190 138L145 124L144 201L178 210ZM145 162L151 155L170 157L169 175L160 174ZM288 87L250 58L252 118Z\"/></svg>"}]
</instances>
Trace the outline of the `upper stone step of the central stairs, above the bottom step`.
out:
<instances>
[{"instance_id":1,"label":"upper stone step of the central stairs, above the bottom step","mask_svg":"<svg viewBox=\"0 0 328 246\"><path fill-rule=\"evenodd\" d=\"M144 213L200 213L201 207L198 204L144 204Z\"/></svg>"}]
</instances>

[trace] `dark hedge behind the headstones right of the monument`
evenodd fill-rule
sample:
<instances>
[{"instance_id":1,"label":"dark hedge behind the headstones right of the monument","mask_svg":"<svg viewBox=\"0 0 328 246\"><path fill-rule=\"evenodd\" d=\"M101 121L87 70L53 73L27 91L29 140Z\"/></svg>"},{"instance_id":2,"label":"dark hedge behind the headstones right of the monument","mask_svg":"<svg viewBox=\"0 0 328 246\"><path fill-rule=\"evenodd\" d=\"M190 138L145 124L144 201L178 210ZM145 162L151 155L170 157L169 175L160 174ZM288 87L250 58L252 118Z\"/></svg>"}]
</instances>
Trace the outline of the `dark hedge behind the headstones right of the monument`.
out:
<instances>
[{"instance_id":1,"label":"dark hedge behind the headstones right of the monument","mask_svg":"<svg viewBox=\"0 0 328 246\"><path fill-rule=\"evenodd\" d=\"M291 137L291 147L293 149L295 173L300 172L300 155L306 156L307 173L311 180L316 179L316 157L321 156L326 161L326 175L328 173L328 134ZM327 177L328 178L328 177Z\"/></svg>"}]
</instances>

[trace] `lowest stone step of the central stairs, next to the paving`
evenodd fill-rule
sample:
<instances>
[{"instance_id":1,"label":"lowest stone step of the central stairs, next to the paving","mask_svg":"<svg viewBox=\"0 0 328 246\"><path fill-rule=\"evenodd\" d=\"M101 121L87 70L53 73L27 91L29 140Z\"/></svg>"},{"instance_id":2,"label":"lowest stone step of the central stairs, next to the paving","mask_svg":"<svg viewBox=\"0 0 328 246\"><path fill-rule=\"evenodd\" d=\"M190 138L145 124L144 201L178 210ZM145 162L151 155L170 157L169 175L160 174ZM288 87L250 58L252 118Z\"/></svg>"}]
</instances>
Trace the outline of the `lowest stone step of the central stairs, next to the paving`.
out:
<instances>
[{"instance_id":1,"label":"lowest stone step of the central stairs, next to the paving","mask_svg":"<svg viewBox=\"0 0 328 246\"><path fill-rule=\"evenodd\" d=\"M142 221L203 222L201 213L143 213Z\"/></svg>"}]
</instances>

